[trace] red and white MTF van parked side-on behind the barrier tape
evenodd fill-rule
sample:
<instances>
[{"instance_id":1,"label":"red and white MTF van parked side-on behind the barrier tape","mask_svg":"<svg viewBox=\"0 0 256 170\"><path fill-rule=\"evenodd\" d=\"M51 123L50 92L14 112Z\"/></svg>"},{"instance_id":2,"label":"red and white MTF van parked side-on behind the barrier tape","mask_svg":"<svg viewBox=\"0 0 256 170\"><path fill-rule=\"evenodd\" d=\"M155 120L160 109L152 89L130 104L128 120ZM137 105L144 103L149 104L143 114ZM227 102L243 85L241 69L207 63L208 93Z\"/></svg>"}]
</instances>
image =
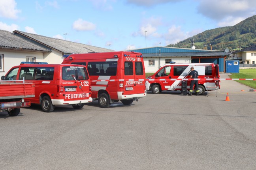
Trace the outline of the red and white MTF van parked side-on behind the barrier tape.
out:
<instances>
[{"instance_id":1,"label":"red and white MTF van parked side-on behind the barrier tape","mask_svg":"<svg viewBox=\"0 0 256 170\"><path fill-rule=\"evenodd\" d=\"M153 94L163 90L181 90L182 80L175 79L189 78L191 67L198 71L198 78L220 78L218 64L165 64L154 75L147 77L149 81L146 81L146 90L151 90ZM187 90L190 90L190 82L190 80L187 81ZM205 90L217 90L220 88L220 80L198 80L198 88L200 95L204 94Z\"/></svg>"}]
</instances>

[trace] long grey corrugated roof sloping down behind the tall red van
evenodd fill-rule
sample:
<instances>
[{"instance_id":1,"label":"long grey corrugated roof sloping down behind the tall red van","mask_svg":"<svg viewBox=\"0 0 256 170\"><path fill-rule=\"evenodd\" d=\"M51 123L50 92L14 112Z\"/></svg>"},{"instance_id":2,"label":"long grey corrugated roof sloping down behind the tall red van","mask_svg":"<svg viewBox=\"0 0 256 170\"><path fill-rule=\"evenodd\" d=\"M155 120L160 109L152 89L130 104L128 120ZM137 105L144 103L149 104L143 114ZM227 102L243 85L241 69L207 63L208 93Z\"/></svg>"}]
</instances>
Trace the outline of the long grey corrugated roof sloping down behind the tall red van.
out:
<instances>
[{"instance_id":1,"label":"long grey corrugated roof sloping down behind the tall red van","mask_svg":"<svg viewBox=\"0 0 256 170\"><path fill-rule=\"evenodd\" d=\"M27 32L22 32L15 30L13 31L14 34L20 34L20 35L25 35L33 40L36 40L40 42L43 45L46 45L48 47L51 47L53 49L56 49L60 52L66 53L66 54L79 54L79 53L88 53L88 52L111 52L114 50L109 50L105 48L100 48L100 47L94 47L91 45L85 45L81 43L75 43L72 41L66 41L63 39L57 39L57 38L51 38L51 37L45 37L42 35L37 35L37 34L30 34Z\"/></svg>"}]
</instances>

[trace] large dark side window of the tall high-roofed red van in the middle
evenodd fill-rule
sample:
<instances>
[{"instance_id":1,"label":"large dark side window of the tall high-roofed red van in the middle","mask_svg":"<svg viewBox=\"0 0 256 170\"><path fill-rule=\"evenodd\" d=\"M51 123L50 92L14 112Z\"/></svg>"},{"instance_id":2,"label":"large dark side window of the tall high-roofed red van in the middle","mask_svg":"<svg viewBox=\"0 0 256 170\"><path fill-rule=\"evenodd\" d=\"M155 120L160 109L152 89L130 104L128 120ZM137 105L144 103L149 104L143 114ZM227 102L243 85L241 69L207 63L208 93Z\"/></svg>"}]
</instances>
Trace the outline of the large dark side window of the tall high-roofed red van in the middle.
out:
<instances>
[{"instance_id":1,"label":"large dark side window of the tall high-roofed red van in the middle","mask_svg":"<svg viewBox=\"0 0 256 170\"><path fill-rule=\"evenodd\" d=\"M89 62L89 75L117 75L117 62Z\"/></svg>"}]
</instances>

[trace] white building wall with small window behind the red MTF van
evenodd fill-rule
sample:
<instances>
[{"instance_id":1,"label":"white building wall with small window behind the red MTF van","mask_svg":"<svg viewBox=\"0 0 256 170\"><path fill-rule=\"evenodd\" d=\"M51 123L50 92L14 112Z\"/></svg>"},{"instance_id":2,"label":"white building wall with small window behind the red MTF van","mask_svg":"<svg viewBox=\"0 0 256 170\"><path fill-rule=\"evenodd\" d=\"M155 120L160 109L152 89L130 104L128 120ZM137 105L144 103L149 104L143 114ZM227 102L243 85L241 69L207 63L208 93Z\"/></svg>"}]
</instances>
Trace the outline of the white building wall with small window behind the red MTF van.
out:
<instances>
[{"instance_id":1,"label":"white building wall with small window behind the red MTF van","mask_svg":"<svg viewBox=\"0 0 256 170\"><path fill-rule=\"evenodd\" d=\"M190 63L190 57L160 57L160 67L165 63L166 59L171 59L172 62L176 63ZM159 57L144 57L144 66L146 73L155 73L159 67ZM154 60L154 66L149 65L149 60Z\"/></svg>"}]
</instances>

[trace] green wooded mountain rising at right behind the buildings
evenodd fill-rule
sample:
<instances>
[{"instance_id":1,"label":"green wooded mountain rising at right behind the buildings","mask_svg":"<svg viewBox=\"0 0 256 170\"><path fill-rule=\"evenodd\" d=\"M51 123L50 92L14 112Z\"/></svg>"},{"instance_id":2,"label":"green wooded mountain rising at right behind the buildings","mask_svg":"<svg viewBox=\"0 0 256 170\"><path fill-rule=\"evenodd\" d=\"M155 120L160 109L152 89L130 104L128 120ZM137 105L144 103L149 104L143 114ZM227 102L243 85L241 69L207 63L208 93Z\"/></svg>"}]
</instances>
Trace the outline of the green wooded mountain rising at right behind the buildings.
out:
<instances>
[{"instance_id":1,"label":"green wooded mountain rising at right behind the buildings","mask_svg":"<svg viewBox=\"0 0 256 170\"><path fill-rule=\"evenodd\" d=\"M226 48L234 50L239 47L244 48L256 44L256 15L234 26L206 30L167 47L191 48L192 39L194 39L196 49L208 50L211 47L213 50L225 50Z\"/></svg>"}]
</instances>

